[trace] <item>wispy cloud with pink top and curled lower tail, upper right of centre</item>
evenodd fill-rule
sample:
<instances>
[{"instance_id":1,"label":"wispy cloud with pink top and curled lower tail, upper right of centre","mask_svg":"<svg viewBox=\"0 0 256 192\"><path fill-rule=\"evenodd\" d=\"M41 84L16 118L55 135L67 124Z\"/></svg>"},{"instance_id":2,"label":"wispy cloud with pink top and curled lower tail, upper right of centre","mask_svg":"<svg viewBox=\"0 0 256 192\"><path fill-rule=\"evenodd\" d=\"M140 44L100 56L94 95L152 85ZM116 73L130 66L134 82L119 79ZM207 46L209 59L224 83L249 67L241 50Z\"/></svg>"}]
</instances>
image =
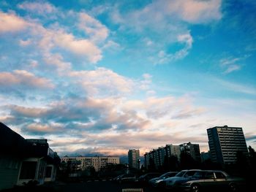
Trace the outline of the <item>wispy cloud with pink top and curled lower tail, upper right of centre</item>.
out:
<instances>
[{"instance_id":1,"label":"wispy cloud with pink top and curled lower tail, upper right of centre","mask_svg":"<svg viewBox=\"0 0 256 192\"><path fill-rule=\"evenodd\" d=\"M121 14L116 6L112 12L113 22L121 25L120 30L129 34L143 34L146 45L154 45L157 53L150 55L153 64L168 64L184 58L192 48L193 38L187 29L188 23L211 23L220 20L221 1L152 1L140 9ZM121 8L120 8L121 9ZM129 22L127 22L129 20ZM148 34L148 37L147 37ZM154 36L152 35L154 34ZM159 34L165 34L159 37ZM167 49L175 43L184 45L175 53Z\"/></svg>"}]
</instances>

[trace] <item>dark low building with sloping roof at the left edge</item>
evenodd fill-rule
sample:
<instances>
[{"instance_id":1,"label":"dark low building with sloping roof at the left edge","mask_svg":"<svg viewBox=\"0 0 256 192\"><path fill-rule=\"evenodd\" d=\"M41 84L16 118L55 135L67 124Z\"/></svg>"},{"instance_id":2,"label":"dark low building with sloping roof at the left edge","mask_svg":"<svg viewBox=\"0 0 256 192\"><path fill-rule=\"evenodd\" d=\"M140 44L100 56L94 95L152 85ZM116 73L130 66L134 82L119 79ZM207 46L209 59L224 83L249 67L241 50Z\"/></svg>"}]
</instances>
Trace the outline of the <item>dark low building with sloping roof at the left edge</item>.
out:
<instances>
[{"instance_id":1,"label":"dark low building with sloping roof at the left edge","mask_svg":"<svg viewBox=\"0 0 256 192\"><path fill-rule=\"evenodd\" d=\"M0 123L0 147L0 190L30 180L42 184L56 179L60 158L47 139L24 139Z\"/></svg>"}]
</instances>

